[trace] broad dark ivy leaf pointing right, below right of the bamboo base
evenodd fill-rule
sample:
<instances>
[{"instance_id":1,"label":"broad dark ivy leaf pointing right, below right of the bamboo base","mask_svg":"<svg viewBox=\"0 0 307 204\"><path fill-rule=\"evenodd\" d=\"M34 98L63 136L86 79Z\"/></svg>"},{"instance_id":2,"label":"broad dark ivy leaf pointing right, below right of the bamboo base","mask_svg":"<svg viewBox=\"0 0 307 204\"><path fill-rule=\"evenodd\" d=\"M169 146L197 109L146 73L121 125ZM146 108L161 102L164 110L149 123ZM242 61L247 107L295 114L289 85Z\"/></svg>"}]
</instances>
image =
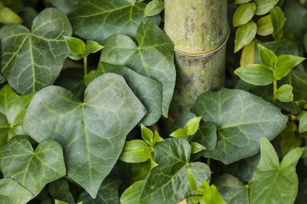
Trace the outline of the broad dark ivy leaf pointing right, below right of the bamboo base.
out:
<instances>
[{"instance_id":1,"label":"broad dark ivy leaf pointing right, below right of the bamboo base","mask_svg":"<svg viewBox=\"0 0 307 204\"><path fill-rule=\"evenodd\" d=\"M204 156L232 162L256 154L260 138L274 139L284 128L288 117L264 99L243 90L223 88L199 96L196 110L203 120L217 126L216 148Z\"/></svg>"}]
</instances>

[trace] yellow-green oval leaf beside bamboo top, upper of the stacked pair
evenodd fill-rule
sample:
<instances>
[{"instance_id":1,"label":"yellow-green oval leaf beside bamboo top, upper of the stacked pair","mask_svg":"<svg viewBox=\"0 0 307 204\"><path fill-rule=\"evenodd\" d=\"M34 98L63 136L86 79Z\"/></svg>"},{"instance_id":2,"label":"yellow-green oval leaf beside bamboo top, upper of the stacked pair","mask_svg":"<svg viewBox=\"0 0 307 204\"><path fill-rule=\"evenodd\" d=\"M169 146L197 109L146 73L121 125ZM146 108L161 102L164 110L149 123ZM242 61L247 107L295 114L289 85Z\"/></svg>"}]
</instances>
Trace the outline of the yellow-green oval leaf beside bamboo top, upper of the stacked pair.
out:
<instances>
[{"instance_id":1,"label":"yellow-green oval leaf beside bamboo top, upper of the stacked pair","mask_svg":"<svg viewBox=\"0 0 307 204\"><path fill-rule=\"evenodd\" d=\"M254 3L241 4L233 15L233 27L246 24L252 19L256 11L256 5Z\"/></svg>"}]
</instances>

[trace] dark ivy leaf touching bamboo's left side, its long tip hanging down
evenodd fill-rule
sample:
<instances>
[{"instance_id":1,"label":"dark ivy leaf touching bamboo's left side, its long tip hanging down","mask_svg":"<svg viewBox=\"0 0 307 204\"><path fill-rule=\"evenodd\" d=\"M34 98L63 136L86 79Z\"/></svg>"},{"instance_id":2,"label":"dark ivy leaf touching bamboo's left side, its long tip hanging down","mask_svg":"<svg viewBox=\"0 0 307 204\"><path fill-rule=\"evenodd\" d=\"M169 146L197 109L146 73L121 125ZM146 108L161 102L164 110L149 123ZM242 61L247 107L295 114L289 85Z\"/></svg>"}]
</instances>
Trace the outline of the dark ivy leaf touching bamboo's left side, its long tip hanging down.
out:
<instances>
[{"instance_id":1,"label":"dark ivy leaf touching bamboo's left side, its long tip hanging down","mask_svg":"<svg viewBox=\"0 0 307 204\"><path fill-rule=\"evenodd\" d=\"M136 38L138 44L125 35L110 36L103 43L100 61L161 81L162 114L167 117L176 80L173 44L152 20L139 26Z\"/></svg>"}]
</instances>

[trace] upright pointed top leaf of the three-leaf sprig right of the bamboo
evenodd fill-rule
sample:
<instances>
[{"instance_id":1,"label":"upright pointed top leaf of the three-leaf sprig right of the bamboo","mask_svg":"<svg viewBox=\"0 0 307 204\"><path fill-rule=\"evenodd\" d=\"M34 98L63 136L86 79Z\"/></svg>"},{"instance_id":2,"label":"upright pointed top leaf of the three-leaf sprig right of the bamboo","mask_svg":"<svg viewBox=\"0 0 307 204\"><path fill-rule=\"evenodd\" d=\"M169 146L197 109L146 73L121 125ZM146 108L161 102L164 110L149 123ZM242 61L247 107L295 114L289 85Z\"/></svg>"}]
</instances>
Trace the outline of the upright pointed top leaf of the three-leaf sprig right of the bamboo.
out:
<instances>
[{"instance_id":1,"label":"upright pointed top leaf of the three-leaf sprig right of the bamboo","mask_svg":"<svg viewBox=\"0 0 307 204\"><path fill-rule=\"evenodd\" d=\"M272 52L265 46L262 46L260 44L257 44L257 45L258 45L258 50L259 50L259 58L260 58L262 65L274 71L275 66L278 63L276 54L274 54L274 52Z\"/></svg>"}]
</instances>

